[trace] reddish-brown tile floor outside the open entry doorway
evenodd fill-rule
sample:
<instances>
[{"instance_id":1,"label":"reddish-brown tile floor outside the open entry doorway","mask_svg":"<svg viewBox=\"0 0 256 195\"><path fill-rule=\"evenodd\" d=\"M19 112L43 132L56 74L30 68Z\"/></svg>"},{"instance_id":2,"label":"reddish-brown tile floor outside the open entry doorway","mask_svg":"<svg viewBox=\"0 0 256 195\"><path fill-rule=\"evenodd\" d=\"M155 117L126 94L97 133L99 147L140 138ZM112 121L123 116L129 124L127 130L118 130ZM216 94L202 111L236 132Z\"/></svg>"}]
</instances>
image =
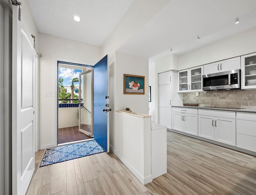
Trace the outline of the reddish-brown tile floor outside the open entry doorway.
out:
<instances>
[{"instance_id":1,"label":"reddish-brown tile floor outside the open entry doorway","mask_svg":"<svg viewBox=\"0 0 256 195\"><path fill-rule=\"evenodd\" d=\"M58 144L75 142L79 140L87 140L91 138L92 137L82 132L79 132L78 126L59 128L58 130Z\"/></svg>"}]
</instances>

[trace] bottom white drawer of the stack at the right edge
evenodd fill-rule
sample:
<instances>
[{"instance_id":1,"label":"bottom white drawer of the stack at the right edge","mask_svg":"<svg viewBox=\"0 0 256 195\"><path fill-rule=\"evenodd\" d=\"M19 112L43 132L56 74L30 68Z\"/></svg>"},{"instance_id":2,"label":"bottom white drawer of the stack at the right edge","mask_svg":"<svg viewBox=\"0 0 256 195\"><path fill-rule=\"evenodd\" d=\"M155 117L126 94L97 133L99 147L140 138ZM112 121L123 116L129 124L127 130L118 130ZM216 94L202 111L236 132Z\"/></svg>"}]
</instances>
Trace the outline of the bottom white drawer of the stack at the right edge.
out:
<instances>
[{"instance_id":1,"label":"bottom white drawer of the stack at the right edge","mask_svg":"<svg viewBox=\"0 0 256 195\"><path fill-rule=\"evenodd\" d=\"M256 152L256 137L237 133L236 147Z\"/></svg>"}]
</instances>

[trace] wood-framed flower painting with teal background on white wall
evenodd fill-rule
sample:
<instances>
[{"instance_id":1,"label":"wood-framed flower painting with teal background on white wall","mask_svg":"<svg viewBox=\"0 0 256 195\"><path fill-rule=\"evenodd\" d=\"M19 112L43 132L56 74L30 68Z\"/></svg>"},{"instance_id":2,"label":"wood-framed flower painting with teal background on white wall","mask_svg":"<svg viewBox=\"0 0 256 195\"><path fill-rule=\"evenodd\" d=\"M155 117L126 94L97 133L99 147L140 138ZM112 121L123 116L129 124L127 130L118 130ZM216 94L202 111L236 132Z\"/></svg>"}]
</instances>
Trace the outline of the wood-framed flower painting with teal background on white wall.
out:
<instances>
[{"instance_id":1,"label":"wood-framed flower painting with teal background on white wall","mask_svg":"<svg viewBox=\"0 0 256 195\"><path fill-rule=\"evenodd\" d=\"M124 94L144 95L145 77L124 74Z\"/></svg>"}]
</instances>

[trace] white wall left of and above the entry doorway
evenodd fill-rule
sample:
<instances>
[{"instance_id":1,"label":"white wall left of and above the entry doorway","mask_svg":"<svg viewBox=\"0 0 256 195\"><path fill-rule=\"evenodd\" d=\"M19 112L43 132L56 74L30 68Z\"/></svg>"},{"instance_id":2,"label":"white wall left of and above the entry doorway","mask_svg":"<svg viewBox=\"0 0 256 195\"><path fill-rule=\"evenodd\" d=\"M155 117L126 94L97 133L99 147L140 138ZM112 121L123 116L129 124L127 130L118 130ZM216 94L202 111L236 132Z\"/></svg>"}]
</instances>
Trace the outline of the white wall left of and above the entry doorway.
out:
<instances>
[{"instance_id":1,"label":"white wall left of and above the entry doorway","mask_svg":"<svg viewBox=\"0 0 256 195\"><path fill-rule=\"evenodd\" d=\"M57 60L94 65L100 60L101 48L39 33L40 102L39 102L39 149L57 144ZM45 97L52 91L52 97Z\"/></svg>"}]
</instances>

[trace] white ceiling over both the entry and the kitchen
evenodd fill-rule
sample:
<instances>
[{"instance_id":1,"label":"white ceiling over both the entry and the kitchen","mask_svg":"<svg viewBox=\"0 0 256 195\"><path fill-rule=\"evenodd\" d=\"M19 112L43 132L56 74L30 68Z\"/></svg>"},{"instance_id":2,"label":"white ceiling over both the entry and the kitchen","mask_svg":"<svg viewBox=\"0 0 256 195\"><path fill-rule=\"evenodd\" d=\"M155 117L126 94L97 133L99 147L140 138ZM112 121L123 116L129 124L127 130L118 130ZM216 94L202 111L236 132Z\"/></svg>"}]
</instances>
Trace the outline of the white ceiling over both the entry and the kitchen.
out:
<instances>
[{"instance_id":1,"label":"white ceiling over both the entry and the kitchen","mask_svg":"<svg viewBox=\"0 0 256 195\"><path fill-rule=\"evenodd\" d=\"M39 32L98 46L122 22L133 2L28 0ZM74 15L82 21L74 22ZM240 23L235 25L237 17ZM170 0L118 51L148 58L170 53L181 55L255 27L256 0Z\"/></svg>"}]
</instances>

